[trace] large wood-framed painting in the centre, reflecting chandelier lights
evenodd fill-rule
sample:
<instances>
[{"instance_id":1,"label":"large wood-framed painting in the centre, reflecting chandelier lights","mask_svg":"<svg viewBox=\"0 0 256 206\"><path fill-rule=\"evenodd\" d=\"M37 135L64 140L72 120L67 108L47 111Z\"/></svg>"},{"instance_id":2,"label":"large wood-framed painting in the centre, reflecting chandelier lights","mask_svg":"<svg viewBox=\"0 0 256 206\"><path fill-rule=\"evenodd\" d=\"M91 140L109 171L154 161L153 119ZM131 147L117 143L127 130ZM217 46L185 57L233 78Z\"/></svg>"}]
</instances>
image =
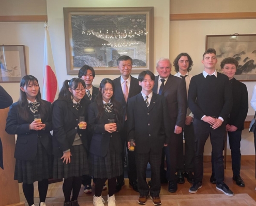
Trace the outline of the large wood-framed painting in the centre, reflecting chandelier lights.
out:
<instances>
[{"instance_id":1,"label":"large wood-framed painting in the centre, reflecting chandelier lights","mask_svg":"<svg viewBox=\"0 0 256 206\"><path fill-rule=\"evenodd\" d=\"M117 59L132 58L132 74L153 71L153 7L63 8L67 74L87 64L96 74L119 74Z\"/></svg>"}]
</instances>

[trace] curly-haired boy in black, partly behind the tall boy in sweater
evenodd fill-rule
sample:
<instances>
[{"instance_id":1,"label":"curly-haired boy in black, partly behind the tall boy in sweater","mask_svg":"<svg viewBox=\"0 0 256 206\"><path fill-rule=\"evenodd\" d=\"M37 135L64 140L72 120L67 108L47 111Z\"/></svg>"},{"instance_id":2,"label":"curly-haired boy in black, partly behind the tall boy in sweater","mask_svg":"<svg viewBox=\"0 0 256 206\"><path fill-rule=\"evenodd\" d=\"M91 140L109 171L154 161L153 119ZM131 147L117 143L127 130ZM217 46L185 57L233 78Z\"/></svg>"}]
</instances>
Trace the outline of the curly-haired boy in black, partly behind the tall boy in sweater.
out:
<instances>
[{"instance_id":1,"label":"curly-haired boy in black, partly behind the tall boy in sweater","mask_svg":"<svg viewBox=\"0 0 256 206\"><path fill-rule=\"evenodd\" d=\"M234 102L226 125L226 131L228 131L229 134L229 146L231 149L233 180L238 186L244 187L245 183L240 177L240 141L242 140L242 130L244 130L244 122L248 112L248 92L246 85L234 78L237 66L238 61L231 57L223 59L220 63L220 68L223 74L229 77ZM212 170L213 173L210 182L216 184L213 152Z\"/></svg>"}]
</instances>

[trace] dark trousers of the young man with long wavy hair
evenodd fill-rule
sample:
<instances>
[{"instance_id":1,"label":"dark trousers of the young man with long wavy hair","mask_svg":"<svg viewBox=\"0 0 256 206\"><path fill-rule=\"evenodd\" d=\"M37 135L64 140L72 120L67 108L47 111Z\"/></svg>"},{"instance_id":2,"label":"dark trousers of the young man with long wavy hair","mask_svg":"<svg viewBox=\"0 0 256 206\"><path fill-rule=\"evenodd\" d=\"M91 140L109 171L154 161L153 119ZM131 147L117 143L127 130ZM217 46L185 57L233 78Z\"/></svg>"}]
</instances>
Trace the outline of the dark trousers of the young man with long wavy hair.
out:
<instances>
[{"instance_id":1,"label":"dark trousers of the young man with long wavy hair","mask_svg":"<svg viewBox=\"0 0 256 206\"><path fill-rule=\"evenodd\" d=\"M177 149L177 171L184 173L184 171L193 172L194 169L194 127L191 125L185 125L183 128L183 135L185 139L185 152L183 151L183 138L178 139Z\"/></svg>"}]
</instances>

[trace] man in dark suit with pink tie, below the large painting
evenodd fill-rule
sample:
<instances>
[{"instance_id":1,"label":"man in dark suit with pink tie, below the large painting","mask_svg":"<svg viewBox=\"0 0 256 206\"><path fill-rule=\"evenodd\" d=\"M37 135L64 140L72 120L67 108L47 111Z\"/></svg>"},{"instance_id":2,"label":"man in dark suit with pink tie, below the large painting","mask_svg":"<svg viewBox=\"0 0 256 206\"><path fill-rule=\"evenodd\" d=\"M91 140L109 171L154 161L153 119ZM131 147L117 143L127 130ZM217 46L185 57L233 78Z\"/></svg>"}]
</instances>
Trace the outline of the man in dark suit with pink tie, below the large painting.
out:
<instances>
[{"instance_id":1,"label":"man in dark suit with pink tie, below the large painting","mask_svg":"<svg viewBox=\"0 0 256 206\"><path fill-rule=\"evenodd\" d=\"M115 84L115 99L121 102L123 106L123 120L124 120L124 129L122 131L122 145L126 148L126 139L127 139L127 122L126 122L126 105L127 100L141 92L141 86L137 78L132 77L132 59L129 56L121 56L117 59L117 68L121 73L121 76L114 79ZM126 149L125 149L126 150ZM123 152L123 157L126 154L126 151ZM134 191L138 192L137 186L137 173L135 165L135 155L134 152L127 151L128 153L128 178L129 184L132 186ZM116 192L122 189L122 186L125 184L124 175L116 177Z\"/></svg>"}]
</instances>

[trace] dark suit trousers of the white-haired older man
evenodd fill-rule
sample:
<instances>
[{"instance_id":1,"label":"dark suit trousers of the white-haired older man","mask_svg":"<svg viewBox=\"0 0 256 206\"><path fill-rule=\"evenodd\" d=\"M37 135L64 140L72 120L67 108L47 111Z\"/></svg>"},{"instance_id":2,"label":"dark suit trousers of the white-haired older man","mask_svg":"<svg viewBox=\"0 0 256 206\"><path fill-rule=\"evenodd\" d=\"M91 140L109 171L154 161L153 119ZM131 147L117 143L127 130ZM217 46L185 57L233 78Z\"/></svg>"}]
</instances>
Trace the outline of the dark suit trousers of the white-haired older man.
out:
<instances>
[{"instance_id":1,"label":"dark suit trousers of the white-haired older man","mask_svg":"<svg viewBox=\"0 0 256 206\"><path fill-rule=\"evenodd\" d=\"M174 127L173 127L174 131ZM169 182L176 182L177 178L175 176L176 168L177 168L177 145L178 140L183 138L183 134L175 134L173 133L171 136L170 143L167 147L164 147L164 154L166 158L167 171L166 178ZM164 156L162 156L161 160L161 171L164 169ZM161 173L163 174L163 172ZM161 177L163 179L163 177Z\"/></svg>"}]
</instances>

